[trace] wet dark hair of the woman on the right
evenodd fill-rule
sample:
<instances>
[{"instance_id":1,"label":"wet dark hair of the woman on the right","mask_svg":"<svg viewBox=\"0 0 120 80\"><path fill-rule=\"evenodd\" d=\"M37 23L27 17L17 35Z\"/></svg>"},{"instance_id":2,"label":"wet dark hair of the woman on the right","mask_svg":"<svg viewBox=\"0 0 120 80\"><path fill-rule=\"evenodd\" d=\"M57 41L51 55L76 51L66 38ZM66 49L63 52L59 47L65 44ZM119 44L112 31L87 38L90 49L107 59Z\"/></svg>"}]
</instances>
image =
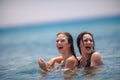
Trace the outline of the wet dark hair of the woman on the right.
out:
<instances>
[{"instance_id":1,"label":"wet dark hair of the woman on the right","mask_svg":"<svg viewBox=\"0 0 120 80\"><path fill-rule=\"evenodd\" d=\"M90 32L81 32L81 33L78 35L78 37L77 37L77 47L78 47L79 52L80 52L81 55L82 55L82 53L81 53L81 48L80 48L79 45L80 45L80 41L81 41L81 40L82 40L82 42L83 42L83 36L84 36L85 34L89 34L89 35L92 36L92 39L93 39L93 50L95 49L95 48L94 48L94 47L95 47L95 41L94 41L93 34L90 33Z\"/></svg>"}]
</instances>

